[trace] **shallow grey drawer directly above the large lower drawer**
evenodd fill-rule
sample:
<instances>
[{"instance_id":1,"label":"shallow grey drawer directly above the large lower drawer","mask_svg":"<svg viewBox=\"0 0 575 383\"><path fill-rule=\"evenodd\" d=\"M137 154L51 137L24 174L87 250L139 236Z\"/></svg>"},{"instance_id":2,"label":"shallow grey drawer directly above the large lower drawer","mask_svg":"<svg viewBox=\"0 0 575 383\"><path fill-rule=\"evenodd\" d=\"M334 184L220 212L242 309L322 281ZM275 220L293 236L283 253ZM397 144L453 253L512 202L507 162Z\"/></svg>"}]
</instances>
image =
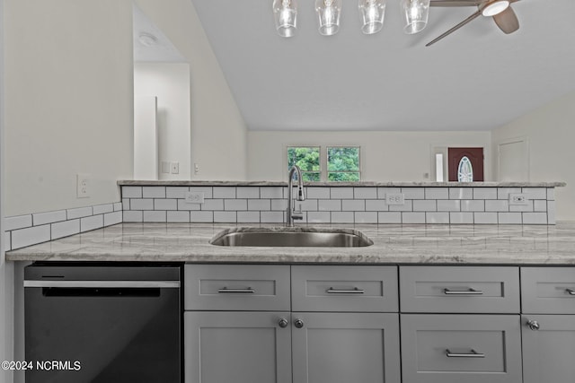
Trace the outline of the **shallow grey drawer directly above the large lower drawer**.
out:
<instances>
[{"instance_id":1,"label":"shallow grey drawer directly above the large lower drawer","mask_svg":"<svg viewBox=\"0 0 575 383\"><path fill-rule=\"evenodd\" d=\"M517 267L402 266L402 312L518 313Z\"/></svg>"}]
</instances>

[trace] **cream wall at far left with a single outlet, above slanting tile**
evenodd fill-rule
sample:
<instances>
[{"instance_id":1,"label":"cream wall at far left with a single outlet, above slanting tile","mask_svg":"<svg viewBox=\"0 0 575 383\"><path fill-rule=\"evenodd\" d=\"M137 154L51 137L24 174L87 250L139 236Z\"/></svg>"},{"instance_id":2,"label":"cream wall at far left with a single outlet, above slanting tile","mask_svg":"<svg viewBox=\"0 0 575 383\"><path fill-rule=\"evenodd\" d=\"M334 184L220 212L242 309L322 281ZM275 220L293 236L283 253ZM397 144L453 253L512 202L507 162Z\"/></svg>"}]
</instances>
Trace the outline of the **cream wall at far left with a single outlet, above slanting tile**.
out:
<instances>
[{"instance_id":1,"label":"cream wall at far left with a single outlet, above slanting tile","mask_svg":"<svg viewBox=\"0 0 575 383\"><path fill-rule=\"evenodd\" d=\"M119 201L132 172L132 5L6 0L5 211ZM76 198L75 175L92 197Z\"/></svg>"}]
</instances>

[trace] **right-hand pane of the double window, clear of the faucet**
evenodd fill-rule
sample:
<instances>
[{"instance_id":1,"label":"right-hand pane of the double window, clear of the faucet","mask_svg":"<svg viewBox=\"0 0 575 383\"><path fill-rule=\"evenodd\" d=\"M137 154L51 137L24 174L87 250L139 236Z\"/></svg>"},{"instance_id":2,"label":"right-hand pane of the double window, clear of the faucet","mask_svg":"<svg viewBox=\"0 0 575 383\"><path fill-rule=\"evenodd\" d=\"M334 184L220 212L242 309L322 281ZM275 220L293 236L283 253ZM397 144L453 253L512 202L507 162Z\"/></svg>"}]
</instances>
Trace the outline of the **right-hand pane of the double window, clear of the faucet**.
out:
<instances>
[{"instance_id":1,"label":"right-hand pane of the double window, clear of the faucet","mask_svg":"<svg viewBox=\"0 0 575 383\"><path fill-rule=\"evenodd\" d=\"M359 178L358 146L327 148L328 181L358 181Z\"/></svg>"}]
</instances>

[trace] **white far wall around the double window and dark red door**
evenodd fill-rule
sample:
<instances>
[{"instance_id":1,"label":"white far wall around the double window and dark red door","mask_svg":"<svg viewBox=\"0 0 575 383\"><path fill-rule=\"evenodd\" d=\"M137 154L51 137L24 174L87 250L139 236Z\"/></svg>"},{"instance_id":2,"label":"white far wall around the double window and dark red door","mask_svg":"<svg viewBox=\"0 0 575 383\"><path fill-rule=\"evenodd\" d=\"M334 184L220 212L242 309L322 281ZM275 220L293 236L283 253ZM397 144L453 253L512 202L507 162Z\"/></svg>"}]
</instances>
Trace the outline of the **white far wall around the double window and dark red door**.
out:
<instances>
[{"instance_id":1,"label":"white far wall around the double window and dark red door","mask_svg":"<svg viewBox=\"0 0 575 383\"><path fill-rule=\"evenodd\" d=\"M251 180L286 180L286 146L361 146L362 180L434 180L434 147L477 146L485 153L484 178L491 177L490 132L259 132L248 133ZM424 174L428 173L429 178Z\"/></svg>"}]
</instances>

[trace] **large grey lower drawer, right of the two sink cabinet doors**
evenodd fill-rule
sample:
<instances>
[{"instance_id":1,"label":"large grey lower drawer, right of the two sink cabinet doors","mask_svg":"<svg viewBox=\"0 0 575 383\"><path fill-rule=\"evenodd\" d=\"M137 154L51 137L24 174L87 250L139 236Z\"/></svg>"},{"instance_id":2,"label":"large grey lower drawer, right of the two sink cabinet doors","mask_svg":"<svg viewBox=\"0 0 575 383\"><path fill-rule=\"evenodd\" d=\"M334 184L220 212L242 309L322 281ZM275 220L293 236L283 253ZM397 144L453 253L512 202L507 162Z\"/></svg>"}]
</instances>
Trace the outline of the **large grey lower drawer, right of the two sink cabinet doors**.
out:
<instances>
[{"instance_id":1,"label":"large grey lower drawer, right of the two sink cabinet doors","mask_svg":"<svg viewBox=\"0 0 575 383\"><path fill-rule=\"evenodd\" d=\"M403 383L518 383L518 315L402 314Z\"/></svg>"}]
</instances>

